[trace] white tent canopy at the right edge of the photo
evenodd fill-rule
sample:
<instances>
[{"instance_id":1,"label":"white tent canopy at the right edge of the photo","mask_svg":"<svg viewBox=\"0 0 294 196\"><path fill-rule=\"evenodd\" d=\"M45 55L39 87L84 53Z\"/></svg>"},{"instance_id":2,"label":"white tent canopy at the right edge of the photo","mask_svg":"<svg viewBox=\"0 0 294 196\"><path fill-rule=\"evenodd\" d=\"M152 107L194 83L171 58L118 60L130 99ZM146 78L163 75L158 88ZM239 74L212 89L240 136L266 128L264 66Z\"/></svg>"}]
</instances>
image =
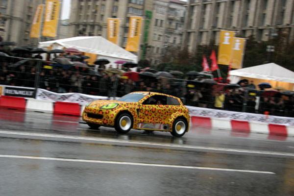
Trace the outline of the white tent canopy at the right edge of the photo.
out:
<instances>
[{"instance_id":1,"label":"white tent canopy at the right edge of the photo","mask_svg":"<svg viewBox=\"0 0 294 196\"><path fill-rule=\"evenodd\" d=\"M274 80L279 82L294 83L294 72L287 70L275 63L257 65L249 68L230 71L231 83L237 83L241 77Z\"/></svg>"}]
</instances>

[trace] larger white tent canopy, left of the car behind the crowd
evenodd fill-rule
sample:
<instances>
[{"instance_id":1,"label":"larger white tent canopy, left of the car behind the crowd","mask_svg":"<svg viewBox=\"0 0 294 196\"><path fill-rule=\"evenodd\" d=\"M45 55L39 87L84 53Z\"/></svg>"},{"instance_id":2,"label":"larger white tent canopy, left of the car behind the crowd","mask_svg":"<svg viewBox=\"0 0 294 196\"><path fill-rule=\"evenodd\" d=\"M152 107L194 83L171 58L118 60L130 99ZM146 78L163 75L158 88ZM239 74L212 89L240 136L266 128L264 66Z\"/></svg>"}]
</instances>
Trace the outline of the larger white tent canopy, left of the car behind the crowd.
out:
<instances>
[{"instance_id":1,"label":"larger white tent canopy, left of the car behind the crowd","mask_svg":"<svg viewBox=\"0 0 294 196\"><path fill-rule=\"evenodd\" d=\"M39 43L39 47L41 48L47 48L49 46L52 46L52 49L62 47L75 48L82 52L97 54L98 58L107 58L112 63L119 59L133 61L135 63L138 61L135 54L126 51L101 36L71 37Z\"/></svg>"}]
</instances>

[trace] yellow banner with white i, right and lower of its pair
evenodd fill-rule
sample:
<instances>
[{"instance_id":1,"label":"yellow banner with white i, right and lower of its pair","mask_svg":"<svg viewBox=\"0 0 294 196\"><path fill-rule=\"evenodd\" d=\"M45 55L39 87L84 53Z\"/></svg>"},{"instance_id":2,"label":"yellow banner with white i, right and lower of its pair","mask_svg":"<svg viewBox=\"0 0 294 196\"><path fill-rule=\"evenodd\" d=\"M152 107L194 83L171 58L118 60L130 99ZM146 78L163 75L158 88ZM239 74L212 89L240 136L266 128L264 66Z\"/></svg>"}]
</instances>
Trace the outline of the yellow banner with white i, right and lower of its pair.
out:
<instances>
[{"instance_id":1,"label":"yellow banner with white i, right and lower of its pair","mask_svg":"<svg viewBox=\"0 0 294 196\"><path fill-rule=\"evenodd\" d=\"M233 47L231 51L231 65L233 69L240 69L243 65L243 56L245 50L245 38L233 38Z\"/></svg>"}]
</instances>

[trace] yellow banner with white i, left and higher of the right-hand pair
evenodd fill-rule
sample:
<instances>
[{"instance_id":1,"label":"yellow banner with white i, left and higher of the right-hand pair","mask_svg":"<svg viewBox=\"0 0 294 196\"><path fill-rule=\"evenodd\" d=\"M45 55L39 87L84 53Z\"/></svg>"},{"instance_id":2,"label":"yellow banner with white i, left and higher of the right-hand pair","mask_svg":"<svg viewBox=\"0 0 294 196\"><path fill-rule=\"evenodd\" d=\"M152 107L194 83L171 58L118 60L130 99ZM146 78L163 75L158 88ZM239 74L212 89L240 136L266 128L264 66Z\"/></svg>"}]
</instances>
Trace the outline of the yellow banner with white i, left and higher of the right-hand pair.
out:
<instances>
[{"instance_id":1,"label":"yellow banner with white i, left and higher of the right-hand pair","mask_svg":"<svg viewBox=\"0 0 294 196\"><path fill-rule=\"evenodd\" d=\"M233 47L234 36L235 36L234 31L221 30L219 54L218 54L218 64L229 65L231 51L232 51L232 47Z\"/></svg>"}]
</instances>

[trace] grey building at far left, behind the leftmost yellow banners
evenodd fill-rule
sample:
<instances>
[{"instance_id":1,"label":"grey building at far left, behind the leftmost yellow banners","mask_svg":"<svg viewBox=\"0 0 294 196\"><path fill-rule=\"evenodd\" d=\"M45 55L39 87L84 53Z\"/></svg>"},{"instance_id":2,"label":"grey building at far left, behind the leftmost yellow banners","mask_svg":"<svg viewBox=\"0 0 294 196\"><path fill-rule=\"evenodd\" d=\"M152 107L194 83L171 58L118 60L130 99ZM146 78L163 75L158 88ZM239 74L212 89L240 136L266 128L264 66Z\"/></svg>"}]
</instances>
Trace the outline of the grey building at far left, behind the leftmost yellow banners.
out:
<instances>
[{"instance_id":1,"label":"grey building at far left, behind the leftmost yellow banners","mask_svg":"<svg viewBox=\"0 0 294 196\"><path fill-rule=\"evenodd\" d=\"M43 0L0 0L0 36L4 41L29 45L29 32L36 7Z\"/></svg>"}]
</instances>

